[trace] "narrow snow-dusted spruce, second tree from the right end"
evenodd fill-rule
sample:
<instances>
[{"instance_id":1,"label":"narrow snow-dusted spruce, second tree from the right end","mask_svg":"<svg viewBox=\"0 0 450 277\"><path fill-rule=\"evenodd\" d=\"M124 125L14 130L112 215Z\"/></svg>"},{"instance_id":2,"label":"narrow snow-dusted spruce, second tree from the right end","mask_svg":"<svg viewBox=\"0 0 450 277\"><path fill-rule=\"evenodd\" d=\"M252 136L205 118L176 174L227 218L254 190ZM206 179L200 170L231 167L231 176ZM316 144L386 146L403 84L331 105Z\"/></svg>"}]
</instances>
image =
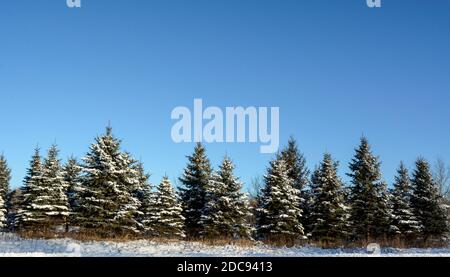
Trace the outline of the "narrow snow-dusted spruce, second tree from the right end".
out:
<instances>
[{"instance_id":1,"label":"narrow snow-dusted spruce, second tree from the right end","mask_svg":"<svg viewBox=\"0 0 450 277\"><path fill-rule=\"evenodd\" d=\"M408 170L403 162L400 163L400 167L397 170L391 195L392 231L397 236L411 239L420 232L420 223L414 216L414 211L411 207L411 183Z\"/></svg>"}]
</instances>

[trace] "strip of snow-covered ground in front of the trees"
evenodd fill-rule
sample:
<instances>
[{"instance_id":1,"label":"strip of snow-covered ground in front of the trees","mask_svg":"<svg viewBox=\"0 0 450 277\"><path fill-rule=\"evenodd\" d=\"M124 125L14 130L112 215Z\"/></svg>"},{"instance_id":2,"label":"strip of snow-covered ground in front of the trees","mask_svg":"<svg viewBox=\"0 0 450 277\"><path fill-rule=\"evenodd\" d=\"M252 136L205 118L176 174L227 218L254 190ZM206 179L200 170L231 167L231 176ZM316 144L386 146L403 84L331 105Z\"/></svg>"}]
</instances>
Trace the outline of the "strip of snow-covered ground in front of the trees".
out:
<instances>
[{"instance_id":1,"label":"strip of snow-covered ground in front of the trees","mask_svg":"<svg viewBox=\"0 0 450 277\"><path fill-rule=\"evenodd\" d=\"M363 248L208 246L194 242L160 243L146 240L126 243L77 242L71 239L21 239L12 234L0 234L0 257L365 257L380 255L450 257L450 248L383 248L381 254L369 254L367 249Z\"/></svg>"}]
</instances>

